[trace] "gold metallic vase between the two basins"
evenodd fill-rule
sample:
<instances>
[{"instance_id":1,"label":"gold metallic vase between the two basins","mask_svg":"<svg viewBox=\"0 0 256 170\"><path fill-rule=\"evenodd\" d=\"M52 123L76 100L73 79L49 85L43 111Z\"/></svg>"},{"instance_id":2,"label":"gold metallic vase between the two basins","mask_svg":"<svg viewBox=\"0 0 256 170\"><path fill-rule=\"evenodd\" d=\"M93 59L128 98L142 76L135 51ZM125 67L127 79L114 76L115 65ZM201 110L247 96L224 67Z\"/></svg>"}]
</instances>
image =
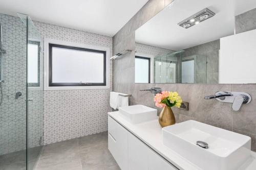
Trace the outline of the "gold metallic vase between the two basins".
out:
<instances>
[{"instance_id":1,"label":"gold metallic vase between the two basins","mask_svg":"<svg viewBox=\"0 0 256 170\"><path fill-rule=\"evenodd\" d=\"M159 115L158 121L162 128L166 126L174 125L176 123L176 120L175 120L173 110L168 106L164 106L163 110Z\"/></svg>"}]
</instances>

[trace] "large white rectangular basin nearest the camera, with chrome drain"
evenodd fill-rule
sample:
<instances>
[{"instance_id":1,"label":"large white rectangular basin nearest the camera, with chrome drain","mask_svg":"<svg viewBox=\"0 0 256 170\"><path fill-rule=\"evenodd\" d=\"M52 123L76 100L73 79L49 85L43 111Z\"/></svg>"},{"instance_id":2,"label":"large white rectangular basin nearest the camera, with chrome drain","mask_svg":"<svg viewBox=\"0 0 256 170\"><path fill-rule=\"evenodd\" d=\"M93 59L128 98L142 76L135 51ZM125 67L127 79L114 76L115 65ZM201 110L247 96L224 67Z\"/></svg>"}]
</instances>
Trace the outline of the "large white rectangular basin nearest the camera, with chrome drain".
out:
<instances>
[{"instance_id":1,"label":"large white rectangular basin nearest the camera, with chrome drain","mask_svg":"<svg viewBox=\"0 0 256 170\"><path fill-rule=\"evenodd\" d=\"M249 157L251 138L188 120L162 129L163 144L207 170L238 169ZM201 148L197 141L208 144Z\"/></svg>"}]
</instances>

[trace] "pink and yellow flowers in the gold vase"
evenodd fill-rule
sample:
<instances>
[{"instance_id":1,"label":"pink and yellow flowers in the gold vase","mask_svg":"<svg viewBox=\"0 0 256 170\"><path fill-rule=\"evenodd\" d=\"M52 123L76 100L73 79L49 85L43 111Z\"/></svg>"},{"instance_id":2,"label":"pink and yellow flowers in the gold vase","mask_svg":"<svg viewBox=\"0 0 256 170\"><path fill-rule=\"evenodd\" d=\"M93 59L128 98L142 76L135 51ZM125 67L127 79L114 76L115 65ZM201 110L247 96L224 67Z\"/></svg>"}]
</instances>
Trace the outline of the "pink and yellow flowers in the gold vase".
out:
<instances>
[{"instance_id":1,"label":"pink and yellow flowers in the gold vase","mask_svg":"<svg viewBox=\"0 0 256 170\"><path fill-rule=\"evenodd\" d=\"M164 106L175 106L180 108L182 103L182 99L176 91L162 91L161 93L156 94L154 101L156 102L156 107L160 108Z\"/></svg>"}]
</instances>

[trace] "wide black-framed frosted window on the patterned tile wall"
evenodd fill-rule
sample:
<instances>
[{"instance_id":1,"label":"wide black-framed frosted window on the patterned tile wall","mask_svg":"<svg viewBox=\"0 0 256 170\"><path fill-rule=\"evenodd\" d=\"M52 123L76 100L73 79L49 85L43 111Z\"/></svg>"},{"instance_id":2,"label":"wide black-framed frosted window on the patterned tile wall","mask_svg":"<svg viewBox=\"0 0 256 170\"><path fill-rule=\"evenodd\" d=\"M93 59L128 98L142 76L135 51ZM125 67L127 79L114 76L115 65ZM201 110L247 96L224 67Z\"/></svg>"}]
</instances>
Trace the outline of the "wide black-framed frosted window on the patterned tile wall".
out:
<instances>
[{"instance_id":1,"label":"wide black-framed frosted window on the patterned tile wall","mask_svg":"<svg viewBox=\"0 0 256 170\"><path fill-rule=\"evenodd\" d=\"M50 44L50 86L105 85L105 52Z\"/></svg>"}]
</instances>

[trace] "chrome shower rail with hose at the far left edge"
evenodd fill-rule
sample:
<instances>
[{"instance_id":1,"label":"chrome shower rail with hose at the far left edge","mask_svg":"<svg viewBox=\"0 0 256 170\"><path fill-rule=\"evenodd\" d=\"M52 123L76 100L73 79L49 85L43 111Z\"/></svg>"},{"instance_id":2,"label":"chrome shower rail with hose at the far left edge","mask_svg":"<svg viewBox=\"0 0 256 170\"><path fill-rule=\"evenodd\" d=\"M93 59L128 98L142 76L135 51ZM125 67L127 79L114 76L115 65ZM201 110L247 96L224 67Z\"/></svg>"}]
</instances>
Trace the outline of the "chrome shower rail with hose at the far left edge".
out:
<instances>
[{"instance_id":1,"label":"chrome shower rail with hose at the far left edge","mask_svg":"<svg viewBox=\"0 0 256 170\"><path fill-rule=\"evenodd\" d=\"M1 77L0 77L0 106L3 103L4 100L4 93L3 93L3 83L4 83L4 77L3 77L3 54L6 53L6 51L3 49L3 28L0 23L0 67L1 67Z\"/></svg>"}]
</instances>

